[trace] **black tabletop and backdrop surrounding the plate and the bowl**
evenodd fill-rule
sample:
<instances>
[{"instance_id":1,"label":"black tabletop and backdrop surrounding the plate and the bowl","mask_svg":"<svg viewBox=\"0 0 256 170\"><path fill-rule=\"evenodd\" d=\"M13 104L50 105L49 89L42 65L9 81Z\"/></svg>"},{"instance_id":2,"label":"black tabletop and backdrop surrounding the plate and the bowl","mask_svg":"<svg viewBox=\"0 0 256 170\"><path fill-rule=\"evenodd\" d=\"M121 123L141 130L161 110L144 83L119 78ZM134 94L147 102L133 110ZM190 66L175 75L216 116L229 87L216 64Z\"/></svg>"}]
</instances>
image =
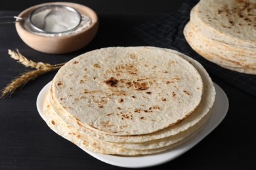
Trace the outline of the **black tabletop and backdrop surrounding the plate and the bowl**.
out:
<instances>
[{"instance_id":1,"label":"black tabletop and backdrop surrounding the plate and the bowl","mask_svg":"<svg viewBox=\"0 0 256 170\"><path fill-rule=\"evenodd\" d=\"M0 1L0 16L16 15L39 3L50 1ZM100 27L85 48L70 54L43 54L18 37L14 25L0 25L0 89L25 70L8 55L18 48L34 61L62 63L89 50L106 46L148 45L131 33L133 27L176 12L183 1L72 1L98 14ZM39 116L35 101L41 88L56 72L29 82L11 97L0 99L0 169L125 169L98 161L66 139L56 135ZM255 169L256 135L253 95L210 75L229 99L223 122L191 150L157 167L148 169Z\"/></svg>"}]
</instances>

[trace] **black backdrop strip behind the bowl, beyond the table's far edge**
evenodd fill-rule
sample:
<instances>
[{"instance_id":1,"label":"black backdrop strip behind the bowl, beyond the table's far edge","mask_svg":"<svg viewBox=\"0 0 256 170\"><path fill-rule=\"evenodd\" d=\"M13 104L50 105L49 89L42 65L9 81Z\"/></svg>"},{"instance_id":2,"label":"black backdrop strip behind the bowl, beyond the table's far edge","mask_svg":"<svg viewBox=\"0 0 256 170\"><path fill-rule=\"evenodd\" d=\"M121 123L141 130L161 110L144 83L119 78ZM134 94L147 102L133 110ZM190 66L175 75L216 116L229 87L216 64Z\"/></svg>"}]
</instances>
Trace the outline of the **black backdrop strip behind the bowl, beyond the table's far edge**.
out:
<instances>
[{"instance_id":1,"label":"black backdrop strip behind the bowl, beyond the table's far edge","mask_svg":"<svg viewBox=\"0 0 256 170\"><path fill-rule=\"evenodd\" d=\"M168 13L179 9L184 0L168 1L168 0L76 0L68 1L81 3L87 7L91 7L98 14L131 14L131 13ZM1 1L0 10L24 10L39 3L47 3L52 1ZM58 2L58 1L56 1Z\"/></svg>"}]
</instances>

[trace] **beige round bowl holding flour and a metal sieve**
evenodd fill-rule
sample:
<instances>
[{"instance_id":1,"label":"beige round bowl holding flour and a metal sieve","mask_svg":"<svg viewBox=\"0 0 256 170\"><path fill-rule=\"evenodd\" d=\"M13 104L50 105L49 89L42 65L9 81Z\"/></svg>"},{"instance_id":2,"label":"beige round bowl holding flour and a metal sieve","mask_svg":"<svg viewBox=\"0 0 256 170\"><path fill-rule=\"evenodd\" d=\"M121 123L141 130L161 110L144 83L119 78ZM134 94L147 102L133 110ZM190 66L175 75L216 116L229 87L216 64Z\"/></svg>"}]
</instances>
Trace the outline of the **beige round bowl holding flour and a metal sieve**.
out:
<instances>
[{"instance_id":1,"label":"beige round bowl holding flour and a metal sieve","mask_svg":"<svg viewBox=\"0 0 256 170\"><path fill-rule=\"evenodd\" d=\"M24 10L18 16L22 18L28 18L32 10L36 9L37 7L56 4L72 7L76 9L81 15L84 14L89 16L91 18L91 25L89 25L89 27L83 28L79 32L70 33L68 35L49 36L38 35L26 30L23 26L24 21L20 21L16 22L15 26L16 31L18 32L18 35L22 41L24 41L26 44L28 44L28 46L35 50L49 54L64 54L68 52L74 52L75 50L79 50L89 44L89 42L93 40L96 32L98 31L98 17L92 9L89 9L83 5L66 2L43 3Z\"/></svg>"}]
</instances>

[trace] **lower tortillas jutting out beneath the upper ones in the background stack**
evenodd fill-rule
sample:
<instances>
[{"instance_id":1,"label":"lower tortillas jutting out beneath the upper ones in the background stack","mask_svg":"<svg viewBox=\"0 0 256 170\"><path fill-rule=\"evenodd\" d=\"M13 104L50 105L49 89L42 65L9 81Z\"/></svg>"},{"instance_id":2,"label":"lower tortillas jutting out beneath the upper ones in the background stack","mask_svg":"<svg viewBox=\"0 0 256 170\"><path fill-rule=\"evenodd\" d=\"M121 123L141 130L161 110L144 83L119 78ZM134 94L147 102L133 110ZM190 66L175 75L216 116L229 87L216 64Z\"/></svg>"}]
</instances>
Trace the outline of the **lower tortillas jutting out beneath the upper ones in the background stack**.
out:
<instances>
[{"instance_id":1,"label":"lower tortillas jutting out beneath the upper ones in the background stack","mask_svg":"<svg viewBox=\"0 0 256 170\"><path fill-rule=\"evenodd\" d=\"M245 70L248 69L256 70L256 58L228 50L224 46L206 39L198 27L191 22L188 22L184 27L184 36L190 46L209 61L226 67L240 67L242 73L245 73Z\"/></svg>"}]
</instances>

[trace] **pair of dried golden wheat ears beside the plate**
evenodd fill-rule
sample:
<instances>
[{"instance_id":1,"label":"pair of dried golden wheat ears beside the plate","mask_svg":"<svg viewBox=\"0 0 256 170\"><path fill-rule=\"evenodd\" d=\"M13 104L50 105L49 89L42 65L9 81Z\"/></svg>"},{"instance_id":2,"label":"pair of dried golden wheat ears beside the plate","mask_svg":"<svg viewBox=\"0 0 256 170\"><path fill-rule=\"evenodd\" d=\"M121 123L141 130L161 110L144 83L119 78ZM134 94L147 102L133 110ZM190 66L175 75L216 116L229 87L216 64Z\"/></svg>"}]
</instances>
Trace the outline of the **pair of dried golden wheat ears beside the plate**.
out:
<instances>
[{"instance_id":1,"label":"pair of dried golden wheat ears beside the plate","mask_svg":"<svg viewBox=\"0 0 256 170\"><path fill-rule=\"evenodd\" d=\"M43 63L43 62L35 62L32 61L31 59L28 59L24 57L18 50L16 52L12 50L8 50L9 55L11 58L17 60L19 63L22 63L22 65L26 67L32 67L35 68L35 70L32 71L26 71L22 73L20 76L17 76L14 78L11 83L7 84L3 90L1 90L1 97L4 97L8 93L13 93L17 88L23 87L27 82L30 80L34 80L37 78L39 75L43 75L44 73L47 73L49 71L53 71L54 69L60 69L65 63L59 63L59 64L54 64L51 65L49 63ZM10 94L10 96L11 96Z\"/></svg>"}]
</instances>

